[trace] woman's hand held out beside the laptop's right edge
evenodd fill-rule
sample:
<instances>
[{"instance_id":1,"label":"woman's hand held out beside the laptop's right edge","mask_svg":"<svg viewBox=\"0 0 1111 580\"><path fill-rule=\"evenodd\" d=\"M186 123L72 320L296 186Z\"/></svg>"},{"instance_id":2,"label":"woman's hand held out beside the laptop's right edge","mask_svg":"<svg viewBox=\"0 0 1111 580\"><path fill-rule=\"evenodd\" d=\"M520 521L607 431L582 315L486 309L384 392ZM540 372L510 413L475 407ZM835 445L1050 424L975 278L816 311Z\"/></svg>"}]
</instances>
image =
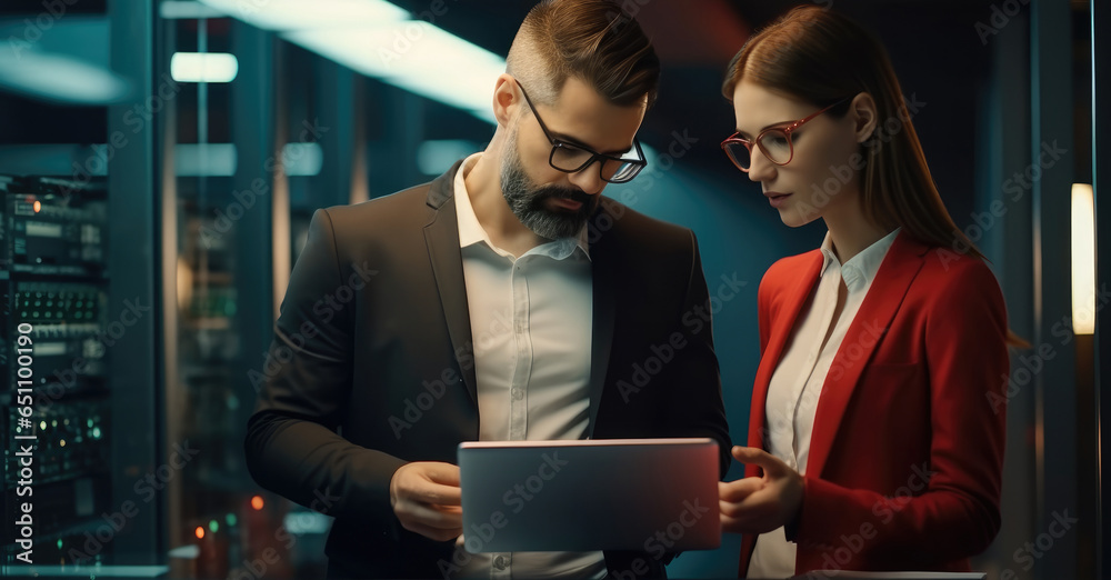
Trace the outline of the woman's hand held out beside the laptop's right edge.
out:
<instances>
[{"instance_id":1,"label":"woman's hand held out beside the laptop's right edge","mask_svg":"<svg viewBox=\"0 0 1111 580\"><path fill-rule=\"evenodd\" d=\"M802 507L802 476L754 447L733 447L733 457L760 466L763 477L718 483L721 530L765 533L794 519Z\"/></svg>"}]
</instances>

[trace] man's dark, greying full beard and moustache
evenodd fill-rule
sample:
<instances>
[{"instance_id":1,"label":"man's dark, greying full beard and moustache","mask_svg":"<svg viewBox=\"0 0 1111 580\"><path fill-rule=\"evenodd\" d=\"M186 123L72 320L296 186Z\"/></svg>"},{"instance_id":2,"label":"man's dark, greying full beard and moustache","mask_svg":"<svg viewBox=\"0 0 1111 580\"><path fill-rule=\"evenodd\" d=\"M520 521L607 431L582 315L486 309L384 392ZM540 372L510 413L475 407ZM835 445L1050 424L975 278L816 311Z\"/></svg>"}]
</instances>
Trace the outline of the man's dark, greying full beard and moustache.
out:
<instances>
[{"instance_id":1,"label":"man's dark, greying full beard and moustache","mask_svg":"<svg viewBox=\"0 0 1111 580\"><path fill-rule=\"evenodd\" d=\"M589 171L592 168L587 168ZM517 219L537 236L556 240L579 234L587 219L598 208L601 196L588 196L581 190L559 186L537 186L524 173L517 151L517 132L506 141L501 163L501 192ZM549 199L567 199L581 203L577 210L548 209Z\"/></svg>"}]
</instances>

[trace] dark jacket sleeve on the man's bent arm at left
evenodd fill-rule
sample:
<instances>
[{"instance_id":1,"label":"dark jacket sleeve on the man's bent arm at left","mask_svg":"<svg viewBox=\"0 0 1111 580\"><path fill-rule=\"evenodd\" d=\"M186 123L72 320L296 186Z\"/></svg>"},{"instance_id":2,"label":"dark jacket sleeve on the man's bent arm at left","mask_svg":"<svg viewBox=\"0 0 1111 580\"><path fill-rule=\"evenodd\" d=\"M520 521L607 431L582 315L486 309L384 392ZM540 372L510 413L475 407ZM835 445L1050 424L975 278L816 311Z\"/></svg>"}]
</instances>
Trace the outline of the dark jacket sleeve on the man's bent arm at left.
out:
<instances>
[{"instance_id":1,"label":"dark jacket sleeve on the man's bent arm at left","mask_svg":"<svg viewBox=\"0 0 1111 580\"><path fill-rule=\"evenodd\" d=\"M352 388L356 303L333 297L344 284L358 283L350 274L338 259L328 211L317 210L266 366L251 373L259 398L244 451L251 476L263 488L386 532L396 530L397 521L390 480L404 461L337 433Z\"/></svg>"}]
</instances>

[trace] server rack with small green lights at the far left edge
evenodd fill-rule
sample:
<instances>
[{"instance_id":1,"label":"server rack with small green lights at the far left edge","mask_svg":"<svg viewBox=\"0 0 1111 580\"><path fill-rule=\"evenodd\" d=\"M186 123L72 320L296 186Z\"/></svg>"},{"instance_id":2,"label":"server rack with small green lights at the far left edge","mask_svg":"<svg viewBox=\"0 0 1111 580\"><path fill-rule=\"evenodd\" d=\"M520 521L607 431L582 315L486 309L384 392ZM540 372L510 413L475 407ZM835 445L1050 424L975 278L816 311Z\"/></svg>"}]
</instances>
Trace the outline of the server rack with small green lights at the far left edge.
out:
<instances>
[{"instance_id":1,"label":"server rack with small green lights at the far left edge","mask_svg":"<svg viewBox=\"0 0 1111 580\"><path fill-rule=\"evenodd\" d=\"M96 564L110 502L111 331L97 182L0 177L3 561ZM103 530L102 530L103 528ZM36 553L38 552L38 553Z\"/></svg>"}]
</instances>

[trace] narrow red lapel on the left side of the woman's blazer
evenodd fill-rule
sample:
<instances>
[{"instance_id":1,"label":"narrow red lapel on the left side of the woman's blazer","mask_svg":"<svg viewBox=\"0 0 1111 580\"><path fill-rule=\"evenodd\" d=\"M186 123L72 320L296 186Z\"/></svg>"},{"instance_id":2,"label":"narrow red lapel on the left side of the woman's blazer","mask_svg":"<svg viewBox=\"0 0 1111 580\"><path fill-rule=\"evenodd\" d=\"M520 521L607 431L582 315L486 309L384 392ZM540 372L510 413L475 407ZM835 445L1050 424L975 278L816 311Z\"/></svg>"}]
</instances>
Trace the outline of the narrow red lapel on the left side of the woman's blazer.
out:
<instances>
[{"instance_id":1,"label":"narrow red lapel on the left side of the woman's blazer","mask_svg":"<svg viewBox=\"0 0 1111 580\"><path fill-rule=\"evenodd\" d=\"M811 252L810 261L799 272L798 283L790 289L779 304L770 304L769 309L780 316L772 321L771 336L768 340L768 351L761 353L760 366L757 368L755 382L752 386L752 408L749 411L749 446L764 448L767 427L764 421L764 407L768 401L768 387L771 384L771 376L779 367L779 359L783 356L787 347L787 339L791 336L794 322L805 306L807 299L814 289L818 276L822 268L822 253ZM769 313L770 314L770 313ZM749 471L752 471L751 473ZM745 469L745 473L753 476L757 473L755 464Z\"/></svg>"}]
</instances>

